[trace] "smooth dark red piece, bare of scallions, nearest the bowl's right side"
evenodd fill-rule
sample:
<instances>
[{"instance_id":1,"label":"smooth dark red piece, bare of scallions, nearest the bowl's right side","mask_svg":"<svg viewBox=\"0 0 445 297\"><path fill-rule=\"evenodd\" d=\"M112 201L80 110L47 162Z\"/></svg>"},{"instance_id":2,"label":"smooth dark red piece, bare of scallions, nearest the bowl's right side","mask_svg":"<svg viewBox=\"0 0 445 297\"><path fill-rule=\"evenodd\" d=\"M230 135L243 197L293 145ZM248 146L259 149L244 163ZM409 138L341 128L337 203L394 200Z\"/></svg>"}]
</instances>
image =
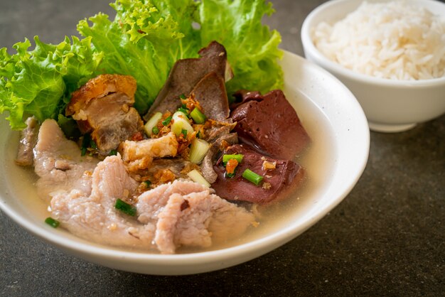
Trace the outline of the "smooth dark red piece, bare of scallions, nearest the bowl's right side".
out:
<instances>
[{"instance_id":1,"label":"smooth dark red piece, bare of scallions, nearest the bowl's right side","mask_svg":"<svg viewBox=\"0 0 445 297\"><path fill-rule=\"evenodd\" d=\"M309 136L301 125L295 109L281 90L266 95L239 92L242 99L230 114L237 126L240 142L250 144L274 158L293 160L309 144Z\"/></svg>"}]
</instances>

